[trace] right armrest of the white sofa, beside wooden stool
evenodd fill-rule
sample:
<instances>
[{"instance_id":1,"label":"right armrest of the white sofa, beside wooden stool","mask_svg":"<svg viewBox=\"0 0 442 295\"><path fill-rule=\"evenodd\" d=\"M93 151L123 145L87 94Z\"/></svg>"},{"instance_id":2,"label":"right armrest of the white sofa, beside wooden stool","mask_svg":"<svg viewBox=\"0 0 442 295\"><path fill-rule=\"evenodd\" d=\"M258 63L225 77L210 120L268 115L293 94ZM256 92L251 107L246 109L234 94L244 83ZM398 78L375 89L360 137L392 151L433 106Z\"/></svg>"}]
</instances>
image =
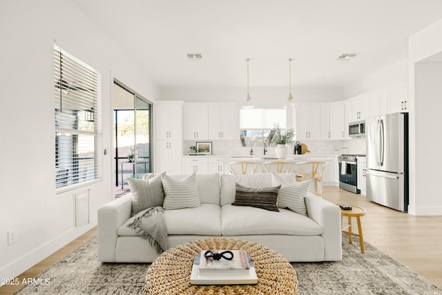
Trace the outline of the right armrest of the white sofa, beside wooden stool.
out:
<instances>
[{"instance_id":1,"label":"right armrest of the white sofa, beside wooden stool","mask_svg":"<svg viewBox=\"0 0 442 295\"><path fill-rule=\"evenodd\" d=\"M323 227L324 260L342 260L342 230L339 207L332 202L315 196L313 193L308 193L305 198L305 205L309 218Z\"/></svg>"}]
</instances>

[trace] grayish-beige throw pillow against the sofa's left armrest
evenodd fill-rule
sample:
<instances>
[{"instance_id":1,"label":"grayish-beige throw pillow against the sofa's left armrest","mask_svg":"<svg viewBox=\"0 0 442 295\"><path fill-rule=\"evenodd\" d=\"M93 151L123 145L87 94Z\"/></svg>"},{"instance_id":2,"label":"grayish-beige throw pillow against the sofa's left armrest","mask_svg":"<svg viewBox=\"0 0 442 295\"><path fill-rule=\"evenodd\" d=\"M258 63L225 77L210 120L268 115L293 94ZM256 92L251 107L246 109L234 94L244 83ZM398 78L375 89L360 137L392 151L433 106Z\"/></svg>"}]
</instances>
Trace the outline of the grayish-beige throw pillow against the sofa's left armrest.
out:
<instances>
[{"instance_id":1,"label":"grayish-beige throw pillow against the sofa's left armrest","mask_svg":"<svg viewBox=\"0 0 442 295\"><path fill-rule=\"evenodd\" d=\"M150 175L146 180L128 178L132 193L132 216L150 207L162 206L164 190L161 175Z\"/></svg>"}]
</instances>

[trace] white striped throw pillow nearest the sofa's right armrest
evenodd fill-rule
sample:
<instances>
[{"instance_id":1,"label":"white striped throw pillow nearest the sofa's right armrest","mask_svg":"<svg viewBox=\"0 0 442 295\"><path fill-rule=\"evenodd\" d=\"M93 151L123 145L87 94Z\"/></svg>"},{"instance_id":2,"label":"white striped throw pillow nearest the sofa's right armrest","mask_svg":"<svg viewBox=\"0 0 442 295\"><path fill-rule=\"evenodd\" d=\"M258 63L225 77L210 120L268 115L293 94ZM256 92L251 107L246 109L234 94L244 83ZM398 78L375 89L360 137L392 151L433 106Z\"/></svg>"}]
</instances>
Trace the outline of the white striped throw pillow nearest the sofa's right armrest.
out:
<instances>
[{"instance_id":1,"label":"white striped throw pillow nearest the sofa's right armrest","mask_svg":"<svg viewBox=\"0 0 442 295\"><path fill-rule=\"evenodd\" d=\"M285 175L283 175L285 174ZM310 188L310 182L296 182L292 173L271 173L271 182L273 186L281 185L278 193L278 207L289 208L291 211L307 216L307 207L305 207L305 196Z\"/></svg>"}]
</instances>

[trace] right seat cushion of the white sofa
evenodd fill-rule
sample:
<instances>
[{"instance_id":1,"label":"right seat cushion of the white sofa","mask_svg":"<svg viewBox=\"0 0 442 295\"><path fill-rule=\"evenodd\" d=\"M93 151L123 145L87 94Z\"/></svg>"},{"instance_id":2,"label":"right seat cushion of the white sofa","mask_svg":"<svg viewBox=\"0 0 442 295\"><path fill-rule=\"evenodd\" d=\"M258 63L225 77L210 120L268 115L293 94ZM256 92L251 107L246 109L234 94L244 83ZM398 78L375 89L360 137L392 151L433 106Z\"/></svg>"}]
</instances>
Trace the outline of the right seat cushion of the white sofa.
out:
<instances>
[{"instance_id":1,"label":"right seat cushion of the white sofa","mask_svg":"<svg viewBox=\"0 0 442 295\"><path fill-rule=\"evenodd\" d=\"M226 204L221 209L222 236L285 234L318 236L323 228L307 216L288 209L279 212Z\"/></svg>"}]
</instances>

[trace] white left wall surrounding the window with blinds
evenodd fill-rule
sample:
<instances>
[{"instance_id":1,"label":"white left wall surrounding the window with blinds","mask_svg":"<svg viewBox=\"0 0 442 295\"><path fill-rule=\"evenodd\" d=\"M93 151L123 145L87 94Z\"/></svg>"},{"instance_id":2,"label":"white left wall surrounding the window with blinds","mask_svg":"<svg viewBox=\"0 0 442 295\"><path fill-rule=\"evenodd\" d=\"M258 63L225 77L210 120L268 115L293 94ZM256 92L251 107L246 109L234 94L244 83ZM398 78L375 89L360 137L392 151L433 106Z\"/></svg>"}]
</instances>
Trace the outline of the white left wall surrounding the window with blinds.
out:
<instances>
[{"instance_id":1,"label":"white left wall surrounding the window with blinds","mask_svg":"<svg viewBox=\"0 0 442 295\"><path fill-rule=\"evenodd\" d=\"M113 196L113 78L155 100L157 88L69 0L0 2L0 278L13 278L96 225ZM102 75L102 180L55 193L53 46ZM90 189L90 224L75 228L73 194ZM8 245L8 230L17 242Z\"/></svg>"}]
</instances>

